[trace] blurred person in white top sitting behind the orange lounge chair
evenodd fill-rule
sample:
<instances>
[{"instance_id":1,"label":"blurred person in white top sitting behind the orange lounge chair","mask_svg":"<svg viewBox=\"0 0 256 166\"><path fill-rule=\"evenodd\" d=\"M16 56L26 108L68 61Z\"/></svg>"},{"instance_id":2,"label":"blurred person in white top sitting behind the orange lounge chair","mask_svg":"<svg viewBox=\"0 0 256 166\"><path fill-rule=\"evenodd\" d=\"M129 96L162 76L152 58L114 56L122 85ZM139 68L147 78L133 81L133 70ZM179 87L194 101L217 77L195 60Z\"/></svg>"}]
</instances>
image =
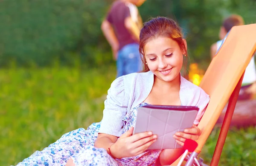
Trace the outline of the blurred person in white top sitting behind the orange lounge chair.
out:
<instances>
[{"instance_id":1,"label":"blurred person in white top sitting behind the orange lounge chair","mask_svg":"<svg viewBox=\"0 0 256 166\"><path fill-rule=\"evenodd\" d=\"M217 51L221 48L221 45L222 43L224 43L230 29L233 26L238 26L238 25L244 25L244 19L239 15L233 14L224 20L219 33L219 38L221 40L212 44L211 46L211 58L213 58L217 53ZM253 56L252 59L250 60L249 65L245 70L244 79L242 82L238 99L239 100L252 99L255 93L256 93L256 68L255 68L255 60Z\"/></svg>"}]
</instances>

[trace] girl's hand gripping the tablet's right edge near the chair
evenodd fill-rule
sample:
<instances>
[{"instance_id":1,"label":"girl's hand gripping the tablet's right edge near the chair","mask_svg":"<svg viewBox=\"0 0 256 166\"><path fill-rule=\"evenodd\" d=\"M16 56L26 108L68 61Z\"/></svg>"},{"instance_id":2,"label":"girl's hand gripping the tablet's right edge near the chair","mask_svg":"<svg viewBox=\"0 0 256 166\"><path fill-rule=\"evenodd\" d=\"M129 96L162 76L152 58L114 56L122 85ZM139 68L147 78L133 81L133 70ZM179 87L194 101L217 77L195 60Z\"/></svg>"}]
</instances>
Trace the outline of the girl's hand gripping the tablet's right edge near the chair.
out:
<instances>
[{"instance_id":1,"label":"girl's hand gripping the tablet's right edge near the chair","mask_svg":"<svg viewBox=\"0 0 256 166\"><path fill-rule=\"evenodd\" d=\"M184 132L176 132L173 135L173 138L176 139L176 142L181 146L184 146L184 142L186 139L198 140L199 136L201 135L201 130L193 124L192 128L184 129Z\"/></svg>"}]
</instances>

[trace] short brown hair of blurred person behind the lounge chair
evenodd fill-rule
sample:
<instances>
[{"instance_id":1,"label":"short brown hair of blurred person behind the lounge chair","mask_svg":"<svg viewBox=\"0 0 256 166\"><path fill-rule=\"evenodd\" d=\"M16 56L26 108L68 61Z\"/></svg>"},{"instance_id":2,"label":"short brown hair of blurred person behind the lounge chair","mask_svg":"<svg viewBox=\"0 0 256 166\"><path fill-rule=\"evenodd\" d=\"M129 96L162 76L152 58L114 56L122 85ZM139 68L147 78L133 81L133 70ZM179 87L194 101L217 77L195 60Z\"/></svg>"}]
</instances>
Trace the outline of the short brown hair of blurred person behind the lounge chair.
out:
<instances>
[{"instance_id":1,"label":"short brown hair of blurred person behind the lounge chair","mask_svg":"<svg viewBox=\"0 0 256 166\"><path fill-rule=\"evenodd\" d=\"M244 19L243 17L237 15L237 14L232 14L230 17L227 17L222 26L225 28L225 30L228 32L233 26L237 25L244 25Z\"/></svg>"}]
</instances>

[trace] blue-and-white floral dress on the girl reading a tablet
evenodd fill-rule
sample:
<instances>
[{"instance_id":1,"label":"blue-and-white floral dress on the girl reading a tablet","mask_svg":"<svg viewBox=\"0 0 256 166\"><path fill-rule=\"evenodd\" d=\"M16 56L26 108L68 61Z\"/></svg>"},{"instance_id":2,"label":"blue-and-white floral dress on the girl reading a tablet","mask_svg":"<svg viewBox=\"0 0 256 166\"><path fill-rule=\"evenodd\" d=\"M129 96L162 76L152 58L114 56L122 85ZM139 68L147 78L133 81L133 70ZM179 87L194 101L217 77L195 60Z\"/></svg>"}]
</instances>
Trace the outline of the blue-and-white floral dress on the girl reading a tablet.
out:
<instances>
[{"instance_id":1,"label":"blue-and-white floral dress on the girl reading a tablet","mask_svg":"<svg viewBox=\"0 0 256 166\"><path fill-rule=\"evenodd\" d=\"M141 103L137 107L146 105ZM137 107L122 119L122 134L134 127ZM91 124L87 130L79 128L61 136L42 151L36 151L17 166L65 166L70 157L76 166L155 166L161 150L146 150L130 158L113 159L103 148L94 147L101 122Z\"/></svg>"}]
</instances>

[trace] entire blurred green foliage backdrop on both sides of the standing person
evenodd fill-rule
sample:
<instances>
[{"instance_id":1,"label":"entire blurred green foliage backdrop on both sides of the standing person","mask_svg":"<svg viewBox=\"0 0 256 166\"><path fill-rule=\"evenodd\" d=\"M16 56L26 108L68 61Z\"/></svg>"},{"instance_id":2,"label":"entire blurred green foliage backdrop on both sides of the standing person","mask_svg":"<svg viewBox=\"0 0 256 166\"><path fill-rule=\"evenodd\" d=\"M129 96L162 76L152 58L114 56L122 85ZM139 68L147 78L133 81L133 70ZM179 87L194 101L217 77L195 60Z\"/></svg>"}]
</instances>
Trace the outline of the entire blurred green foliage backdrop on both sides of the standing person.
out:
<instances>
[{"instance_id":1,"label":"entire blurred green foliage backdrop on both sides of the standing person","mask_svg":"<svg viewBox=\"0 0 256 166\"><path fill-rule=\"evenodd\" d=\"M113 0L0 1L0 66L49 65L52 59L85 66L113 63L100 24ZM147 0L139 8L143 20L167 16L183 28L192 62L207 68L209 47L218 40L224 17L232 13L255 23L255 0Z\"/></svg>"}]
</instances>

